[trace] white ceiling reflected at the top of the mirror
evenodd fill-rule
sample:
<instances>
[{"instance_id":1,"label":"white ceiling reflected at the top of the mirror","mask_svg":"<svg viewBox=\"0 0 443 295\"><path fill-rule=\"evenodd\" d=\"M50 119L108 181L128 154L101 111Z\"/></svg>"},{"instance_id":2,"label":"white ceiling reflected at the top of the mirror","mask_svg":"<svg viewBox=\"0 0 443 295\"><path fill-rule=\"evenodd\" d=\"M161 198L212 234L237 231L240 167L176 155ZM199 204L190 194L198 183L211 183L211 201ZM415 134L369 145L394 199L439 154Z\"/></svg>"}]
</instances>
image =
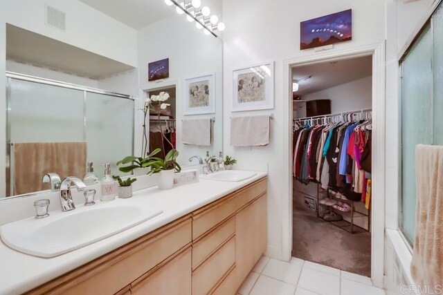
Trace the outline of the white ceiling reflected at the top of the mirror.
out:
<instances>
[{"instance_id":1,"label":"white ceiling reflected at the top of the mirror","mask_svg":"<svg viewBox=\"0 0 443 295\"><path fill-rule=\"evenodd\" d=\"M174 15L163 0L80 0L136 30Z\"/></svg>"}]
</instances>

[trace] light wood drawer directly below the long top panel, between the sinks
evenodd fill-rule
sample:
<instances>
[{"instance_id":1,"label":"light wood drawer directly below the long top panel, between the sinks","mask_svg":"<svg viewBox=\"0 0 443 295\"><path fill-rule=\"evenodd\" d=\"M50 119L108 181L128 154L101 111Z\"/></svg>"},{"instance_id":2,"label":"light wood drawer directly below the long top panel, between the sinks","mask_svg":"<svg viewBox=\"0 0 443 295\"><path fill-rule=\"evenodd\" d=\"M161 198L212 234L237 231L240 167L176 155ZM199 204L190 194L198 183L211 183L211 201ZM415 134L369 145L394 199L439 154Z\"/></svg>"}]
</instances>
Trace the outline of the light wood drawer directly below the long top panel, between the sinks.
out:
<instances>
[{"instance_id":1,"label":"light wood drawer directly below the long top panel, between the sinks","mask_svg":"<svg viewBox=\"0 0 443 295\"><path fill-rule=\"evenodd\" d=\"M206 236L203 236L192 245L192 269L195 269L205 258L215 251L230 236L235 234L235 217L231 217L223 224L215 227Z\"/></svg>"}]
</instances>

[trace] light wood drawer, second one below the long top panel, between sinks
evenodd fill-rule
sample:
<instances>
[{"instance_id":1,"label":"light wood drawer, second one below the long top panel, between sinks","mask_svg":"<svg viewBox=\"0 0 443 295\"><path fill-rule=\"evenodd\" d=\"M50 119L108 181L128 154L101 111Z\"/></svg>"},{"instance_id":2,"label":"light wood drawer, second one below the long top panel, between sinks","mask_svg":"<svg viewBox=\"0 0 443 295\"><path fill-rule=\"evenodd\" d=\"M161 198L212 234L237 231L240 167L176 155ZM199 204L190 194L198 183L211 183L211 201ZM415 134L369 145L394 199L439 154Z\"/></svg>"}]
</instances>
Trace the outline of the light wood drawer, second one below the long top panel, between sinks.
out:
<instances>
[{"instance_id":1,"label":"light wood drawer, second one below the long top panel, between sinks","mask_svg":"<svg viewBox=\"0 0 443 295\"><path fill-rule=\"evenodd\" d=\"M192 295L208 294L235 265L235 236L192 272Z\"/></svg>"}]
</instances>

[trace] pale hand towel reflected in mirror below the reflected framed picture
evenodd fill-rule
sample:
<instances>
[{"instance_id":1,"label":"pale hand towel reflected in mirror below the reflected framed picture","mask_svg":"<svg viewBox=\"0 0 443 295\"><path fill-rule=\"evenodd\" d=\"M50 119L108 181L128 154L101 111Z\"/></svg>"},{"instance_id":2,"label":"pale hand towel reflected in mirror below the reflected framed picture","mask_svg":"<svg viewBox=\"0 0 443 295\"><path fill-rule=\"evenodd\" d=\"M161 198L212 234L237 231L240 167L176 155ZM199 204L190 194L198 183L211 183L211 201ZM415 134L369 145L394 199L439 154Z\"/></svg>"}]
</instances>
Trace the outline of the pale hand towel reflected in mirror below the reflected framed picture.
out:
<instances>
[{"instance_id":1,"label":"pale hand towel reflected in mirror below the reflected framed picture","mask_svg":"<svg viewBox=\"0 0 443 295\"><path fill-rule=\"evenodd\" d=\"M183 120L181 142L196 146L210 146L213 142L212 120Z\"/></svg>"}]
</instances>

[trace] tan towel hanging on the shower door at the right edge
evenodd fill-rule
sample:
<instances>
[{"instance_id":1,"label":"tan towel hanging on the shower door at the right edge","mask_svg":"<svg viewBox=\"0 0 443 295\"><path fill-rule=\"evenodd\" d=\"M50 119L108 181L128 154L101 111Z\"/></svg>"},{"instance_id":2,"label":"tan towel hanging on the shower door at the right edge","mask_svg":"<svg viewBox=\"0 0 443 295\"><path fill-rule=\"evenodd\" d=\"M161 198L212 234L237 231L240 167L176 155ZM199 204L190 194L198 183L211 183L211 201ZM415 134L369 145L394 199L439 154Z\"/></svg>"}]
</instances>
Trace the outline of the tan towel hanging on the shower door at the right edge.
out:
<instances>
[{"instance_id":1,"label":"tan towel hanging on the shower door at the right edge","mask_svg":"<svg viewBox=\"0 0 443 295\"><path fill-rule=\"evenodd\" d=\"M410 272L415 283L434 288L443 283L443 146L417 145L415 173L417 209Z\"/></svg>"}]
</instances>

